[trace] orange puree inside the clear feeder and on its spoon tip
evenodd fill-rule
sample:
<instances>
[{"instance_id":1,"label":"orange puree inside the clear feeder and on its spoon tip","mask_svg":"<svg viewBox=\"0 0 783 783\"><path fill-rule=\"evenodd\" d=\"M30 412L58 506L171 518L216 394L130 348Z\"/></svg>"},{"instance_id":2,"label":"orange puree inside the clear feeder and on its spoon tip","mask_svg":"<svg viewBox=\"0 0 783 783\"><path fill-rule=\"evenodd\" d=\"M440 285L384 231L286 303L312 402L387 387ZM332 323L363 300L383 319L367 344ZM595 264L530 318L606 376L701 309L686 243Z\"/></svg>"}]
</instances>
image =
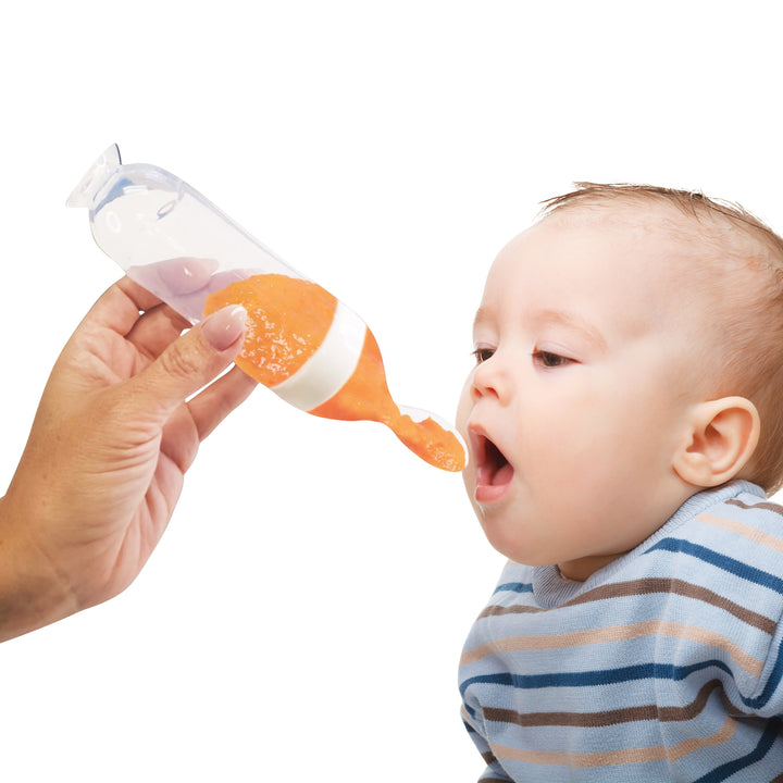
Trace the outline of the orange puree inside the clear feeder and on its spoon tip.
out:
<instances>
[{"instance_id":1,"label":"orange puree inside the clear feeder and on its spoon tip","mask_svg":"<svg viewBox=\"0 0 783 783\"><path fill-rule=\"evenodd\" d=\"M226 304L243 304L248 312L236 364L265 386L276 386L299 370L323 343L337 300L310 281L261 274L211 294L204 315ZM308 412L325 419L381 422L430 464L447 471L464 468L464 448L453 433L433 419L415 422L400 413L386 385L381 351L370 330L351 376L332 398Z\"/></svg>"}]
</instances>

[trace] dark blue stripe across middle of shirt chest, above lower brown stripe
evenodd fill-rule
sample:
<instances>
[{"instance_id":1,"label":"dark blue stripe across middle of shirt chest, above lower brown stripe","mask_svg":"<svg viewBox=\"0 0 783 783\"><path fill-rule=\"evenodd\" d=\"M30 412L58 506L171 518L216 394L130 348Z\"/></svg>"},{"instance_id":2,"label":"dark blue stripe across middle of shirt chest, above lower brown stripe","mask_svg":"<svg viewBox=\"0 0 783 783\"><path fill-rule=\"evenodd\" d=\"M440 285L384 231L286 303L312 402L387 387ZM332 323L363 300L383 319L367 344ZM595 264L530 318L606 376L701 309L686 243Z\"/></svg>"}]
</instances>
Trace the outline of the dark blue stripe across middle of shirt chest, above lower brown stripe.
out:
<instances>
[{"instance_id":1,"label":"dark blue stripe across middle of shirt chest, above lower brown stripe","mask_svg":"<svg viewBox=\"0 0 783 783\"><path fill-rule=\"evenodd\" d=\"M497 672L496 674L478 674L468 678L460 683L460 693L475 683L492 685L509 685L522 691L533 691L544 687L591 687L595 685L611 685L635 680L685 680L694 672L714 667L726 674L731 669L719 660L706 660L686 667L674 667L669 663L639 663L618 669L597 669L581 672L549 672L547 674L512 674Z\"/></svg>"}]
</instances>

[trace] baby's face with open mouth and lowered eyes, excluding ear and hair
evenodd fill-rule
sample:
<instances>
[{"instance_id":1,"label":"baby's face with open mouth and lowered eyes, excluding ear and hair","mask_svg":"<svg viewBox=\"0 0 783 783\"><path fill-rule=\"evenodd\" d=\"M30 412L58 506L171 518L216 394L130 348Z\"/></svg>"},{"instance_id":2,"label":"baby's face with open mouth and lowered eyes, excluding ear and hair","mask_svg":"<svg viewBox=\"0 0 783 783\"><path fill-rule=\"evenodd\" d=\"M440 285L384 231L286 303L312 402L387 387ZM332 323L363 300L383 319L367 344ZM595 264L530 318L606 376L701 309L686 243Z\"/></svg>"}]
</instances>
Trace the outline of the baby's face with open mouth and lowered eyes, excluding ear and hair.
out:
<instances>
[{"instance_id":1,"label":"baby's face with open mouth and lowered eyes, excluding ear and hair","mask_svg":"<svg viewBox=\"0 0 783 783\"><path fill-rule=\"evenodd\" d=\"M496 259L458 423L471 501L510 559L586 579L694 494L672 457L705 395L709 318L678 285L681 250L660 231L567 212Z\"/></svg>"}]
</instances>

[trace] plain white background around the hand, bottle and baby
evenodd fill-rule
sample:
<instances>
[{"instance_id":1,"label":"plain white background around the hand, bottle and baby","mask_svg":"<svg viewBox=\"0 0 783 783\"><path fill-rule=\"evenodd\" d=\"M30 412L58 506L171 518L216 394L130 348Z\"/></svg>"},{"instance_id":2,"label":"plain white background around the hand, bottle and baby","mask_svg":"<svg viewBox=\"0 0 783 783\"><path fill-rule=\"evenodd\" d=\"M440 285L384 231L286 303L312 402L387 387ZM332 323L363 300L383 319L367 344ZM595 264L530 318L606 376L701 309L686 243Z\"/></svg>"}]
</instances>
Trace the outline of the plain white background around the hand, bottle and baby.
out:
<instances>
[{"instance_id":1,"label":"plain white background around the hand, bottle and baby","mask_svg":"<svg viewBox=\"0 0 783 783\"><path fill-rule=\"evenodd\" d=\"M2 449L120 274L65 198L116 141L368 321L451 418L495 253L572 181L783 228L775 1L16 2L0 25ZM0 488L0 492L2 489ZM259 389L117 599L0 647L0 779L473 781L464 634L500 556L461 481Z\"/></svg>"}]
</instances>

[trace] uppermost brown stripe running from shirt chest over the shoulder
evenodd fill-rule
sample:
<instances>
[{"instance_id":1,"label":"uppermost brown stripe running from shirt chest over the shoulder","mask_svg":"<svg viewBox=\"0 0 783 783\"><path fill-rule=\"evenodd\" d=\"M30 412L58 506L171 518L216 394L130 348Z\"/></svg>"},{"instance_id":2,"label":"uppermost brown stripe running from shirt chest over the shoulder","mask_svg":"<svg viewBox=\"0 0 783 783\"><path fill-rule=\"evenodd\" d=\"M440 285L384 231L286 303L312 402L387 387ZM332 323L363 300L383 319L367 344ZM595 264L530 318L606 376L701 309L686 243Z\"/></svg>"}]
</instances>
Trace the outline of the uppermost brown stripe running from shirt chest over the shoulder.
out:
<instances>
[{"instance_id":1,"label":"uppermost brown stripe running from shirt chest over the shoulder","mask_svg":"<svg viewBox=\"0 0 783 783\"><path fill-rule=\"evenodd\" d=\"M711 606L722 609L733 614L738 620L742 620L748 625L763 631L766 634L772 636L775 631L774 620L770 620L763 614L751 611L746 607L739 606L734 601L724 598L706 587L699 587L698 585L684 582L683 580L673 579L644 579L634 580L632 582L619 582L616 584L608 584L602 587L596 587L593 591L588 591L576 598L572 598L570 601L562 604L561 607L577 606L579 604L589 604L591 601L608 600L611 598L624 598L627 596L646 595L651 593L673 593L676 595L684 596L685 598L693 598L695 600L703 601L704 604L710 604ZM487 607L478 618L493 617L500 614L527 614L531 612L550 611L549 609L538 609L536 607L526 606L489 606Z\"/></svg>"}]
</instances>

